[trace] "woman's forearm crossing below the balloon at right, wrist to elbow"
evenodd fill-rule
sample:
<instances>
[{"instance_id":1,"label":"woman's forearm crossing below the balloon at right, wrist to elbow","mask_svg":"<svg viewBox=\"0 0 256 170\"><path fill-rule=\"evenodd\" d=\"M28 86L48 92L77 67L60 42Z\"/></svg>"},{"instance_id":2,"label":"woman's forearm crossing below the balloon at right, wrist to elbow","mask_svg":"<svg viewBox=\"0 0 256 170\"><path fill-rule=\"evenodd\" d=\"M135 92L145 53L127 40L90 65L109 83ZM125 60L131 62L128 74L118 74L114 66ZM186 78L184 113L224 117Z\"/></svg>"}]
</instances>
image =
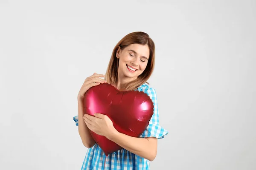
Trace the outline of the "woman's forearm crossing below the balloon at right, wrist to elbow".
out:
<instances>
[{"instance_id":1,"label":"woman's forearm crossing below the balloon at right, wrist to elbow","mask_svg":"<svg viewBox=\"0 0 256 170\"><path fill-rule=\"evenodd\" d=\"M136 138L116 131L108 139L149 161L153 161L157 155L157 138L154 137Z\"/></svg>"}]
</instances>

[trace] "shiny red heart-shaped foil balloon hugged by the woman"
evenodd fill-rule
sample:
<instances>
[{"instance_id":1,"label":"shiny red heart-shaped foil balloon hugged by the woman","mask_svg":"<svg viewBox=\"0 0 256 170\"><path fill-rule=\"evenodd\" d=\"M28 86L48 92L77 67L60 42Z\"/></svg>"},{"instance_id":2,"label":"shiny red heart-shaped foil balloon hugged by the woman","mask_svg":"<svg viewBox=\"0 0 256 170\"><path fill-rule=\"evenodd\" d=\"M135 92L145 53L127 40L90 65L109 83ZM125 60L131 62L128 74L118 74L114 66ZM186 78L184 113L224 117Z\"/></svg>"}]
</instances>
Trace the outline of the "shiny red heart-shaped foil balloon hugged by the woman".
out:
<instances>
[{"instance_id":1,"label":"shiny red heart-shaped foil balloon hugged by the woman","mask_svg":"<svg viewBox=\"0 0 256 170\"><path fill-rule=\"evenodd\" d=\"M103 83L90 88L84 96L84 113L107 115L120 133L139 137L146 129L154 113L154 103L143 91L119 91ZM122 149L105 136L90 130L90 133L105 155Z\"/></svg>"}]
</instances>

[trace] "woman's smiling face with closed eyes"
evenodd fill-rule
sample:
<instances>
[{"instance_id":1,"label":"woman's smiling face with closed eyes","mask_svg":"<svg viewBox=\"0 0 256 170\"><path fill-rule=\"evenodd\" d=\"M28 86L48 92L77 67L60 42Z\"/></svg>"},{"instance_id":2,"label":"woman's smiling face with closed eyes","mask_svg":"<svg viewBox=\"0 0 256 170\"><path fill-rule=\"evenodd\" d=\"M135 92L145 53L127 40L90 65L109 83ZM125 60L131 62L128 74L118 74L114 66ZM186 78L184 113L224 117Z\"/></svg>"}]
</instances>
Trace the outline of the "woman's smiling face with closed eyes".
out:
<instances>
[{"instance_id":1,"label":"woman's smiling face with closed eyes","mask_svg":"<svg viewBox=\"0 0 256 170\"><path fill-rule=\"evenodd\" d=\"M118 74L136 79L148 64L149 48L140 44L131 44L122 50L119 47L116 57L119 58Z\"/></svg>"}]
</instances>

